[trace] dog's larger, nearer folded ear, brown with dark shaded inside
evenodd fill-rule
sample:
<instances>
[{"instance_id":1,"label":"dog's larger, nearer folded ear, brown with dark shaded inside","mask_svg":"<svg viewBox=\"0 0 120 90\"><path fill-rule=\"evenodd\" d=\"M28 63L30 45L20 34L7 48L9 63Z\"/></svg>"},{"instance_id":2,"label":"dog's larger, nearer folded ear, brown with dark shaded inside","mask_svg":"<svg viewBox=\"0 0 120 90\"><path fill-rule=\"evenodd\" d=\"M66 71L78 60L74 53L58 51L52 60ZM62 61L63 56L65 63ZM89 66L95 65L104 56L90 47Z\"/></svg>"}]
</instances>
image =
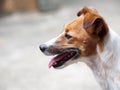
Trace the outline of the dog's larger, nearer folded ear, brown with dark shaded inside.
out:
<instances>
[{"instance_id":1,"label":"dog's larger, nearer folded ear, brown with dark shaded inside","mask_svg":"<svg viewBox=\"0 0 120 90\"><path fill-rule=\"evenodd\" d=\"M93 17L84 20L83 28L90 34L97 35L100 39L103 39L108 32L108 26L102 17Z\"/></svg>"}]
</instances>

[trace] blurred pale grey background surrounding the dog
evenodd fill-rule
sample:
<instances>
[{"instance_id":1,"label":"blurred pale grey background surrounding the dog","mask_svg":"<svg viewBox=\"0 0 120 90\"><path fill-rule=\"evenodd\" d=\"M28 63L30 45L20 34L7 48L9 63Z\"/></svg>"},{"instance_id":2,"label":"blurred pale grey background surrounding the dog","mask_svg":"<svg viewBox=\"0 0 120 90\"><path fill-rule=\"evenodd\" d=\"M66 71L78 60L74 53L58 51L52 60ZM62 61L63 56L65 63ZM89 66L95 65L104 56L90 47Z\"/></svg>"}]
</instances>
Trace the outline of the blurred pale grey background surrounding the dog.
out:
<instances>
[{"instance_id":1,"label":"blurred pale grey background surrounding the dog","mask_svg":"<svg viewBox=\"0 0 120 90\"><path fill-rule=\"evenodd\" d=\"M49 69L39 50L83 6L120 34L120 0L0 0L0 90L101 90L84 63Z\"/></svg>"}]
</instances>

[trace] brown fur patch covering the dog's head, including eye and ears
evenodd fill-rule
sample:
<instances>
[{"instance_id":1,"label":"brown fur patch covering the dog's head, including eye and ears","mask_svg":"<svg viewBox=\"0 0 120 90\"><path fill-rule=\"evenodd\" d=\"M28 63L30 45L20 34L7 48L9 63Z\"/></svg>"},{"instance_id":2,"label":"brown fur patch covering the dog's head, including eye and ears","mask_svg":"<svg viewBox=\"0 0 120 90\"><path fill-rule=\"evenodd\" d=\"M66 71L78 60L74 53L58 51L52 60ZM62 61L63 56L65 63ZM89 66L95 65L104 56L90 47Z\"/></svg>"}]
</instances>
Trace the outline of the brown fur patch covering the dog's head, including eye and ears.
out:
<instances>
[{"instance_id":1,"label":"brown fur patch covering the dog's head, including eye and ears","mask_svg":"<svg viewBox=\"0 0 120 90\"><path fill-rule=\"evenodd\" d=\"M107 24L95 9L84 7L78 12L78 18L64 27L56 44L61 48L75 47L81 50L80 56L96 54L96 47L108 32Z\"/></svg>"}]
</instances>

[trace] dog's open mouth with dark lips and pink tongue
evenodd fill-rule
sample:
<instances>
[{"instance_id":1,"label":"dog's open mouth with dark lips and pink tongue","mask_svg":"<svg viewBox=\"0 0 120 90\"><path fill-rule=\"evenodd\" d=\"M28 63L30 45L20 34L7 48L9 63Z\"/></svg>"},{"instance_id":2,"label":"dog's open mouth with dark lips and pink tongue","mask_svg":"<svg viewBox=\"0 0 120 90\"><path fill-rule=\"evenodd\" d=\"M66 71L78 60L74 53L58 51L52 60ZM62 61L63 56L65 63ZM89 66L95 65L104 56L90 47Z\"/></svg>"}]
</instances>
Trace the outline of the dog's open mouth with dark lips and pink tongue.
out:
<instances>
[{"instance_id":1,"label":"dog's open mouth with dark lips and pink tongue","mask_svg":"<svg viewBox=\"0 0 120 90\"><path fill-rule=\"evenodd\" d=\"M63 50L60 54L55 56L50 62L49 62L49 68L54 67L58 68L62 65L64 65L67 61L76 59L80 55L80 50L77 48L68 48Z\"/></svg>"}]
</instances>

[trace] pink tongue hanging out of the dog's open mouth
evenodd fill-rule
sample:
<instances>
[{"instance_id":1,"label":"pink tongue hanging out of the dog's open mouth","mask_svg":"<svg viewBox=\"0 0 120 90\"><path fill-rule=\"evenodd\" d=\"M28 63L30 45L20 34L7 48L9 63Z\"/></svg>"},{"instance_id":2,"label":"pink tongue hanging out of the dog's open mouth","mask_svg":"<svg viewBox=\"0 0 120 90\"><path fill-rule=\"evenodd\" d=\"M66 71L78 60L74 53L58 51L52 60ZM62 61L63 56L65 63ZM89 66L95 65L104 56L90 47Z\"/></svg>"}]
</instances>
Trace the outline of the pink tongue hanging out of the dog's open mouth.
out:
<instances>
[{"instance_id":1,"label":"pink tongue hanging out of the dog's open mouth","mask_svg":"<svg viewBox=\"0 0 120 90\"><path fill-rule=\"evenodd\" d=\"M68 53L64 53L61 55L56 56L55 58L53 58L49 64L48 67L51 68L53 65L55 65L55 63L57 63L57 61L62 60Z\"/></svg>"}]
</instances>

